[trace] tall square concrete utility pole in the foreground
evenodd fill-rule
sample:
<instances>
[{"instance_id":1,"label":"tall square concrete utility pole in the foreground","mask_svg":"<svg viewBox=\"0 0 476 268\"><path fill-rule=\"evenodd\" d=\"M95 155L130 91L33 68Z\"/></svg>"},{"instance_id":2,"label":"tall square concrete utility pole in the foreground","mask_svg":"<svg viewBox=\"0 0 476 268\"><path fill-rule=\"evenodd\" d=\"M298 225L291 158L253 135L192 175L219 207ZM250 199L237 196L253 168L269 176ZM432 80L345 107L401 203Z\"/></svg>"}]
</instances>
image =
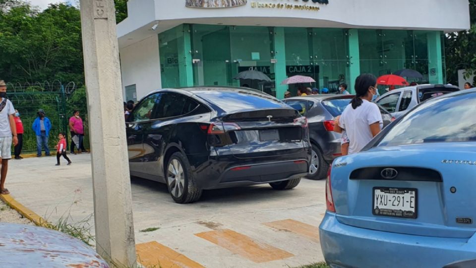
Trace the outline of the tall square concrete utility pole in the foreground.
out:
<instances>
[{"instance_id":1,"label":"tall square concrete utility pole in the foreground","mask_svg":"<svg viewBox=\"0 0 476 268\"><path fill-rule=\"evenodd\" d=\"M120 267L136 267L114 1L80 6L97 251Z\"/></svg>"}]
</instances>

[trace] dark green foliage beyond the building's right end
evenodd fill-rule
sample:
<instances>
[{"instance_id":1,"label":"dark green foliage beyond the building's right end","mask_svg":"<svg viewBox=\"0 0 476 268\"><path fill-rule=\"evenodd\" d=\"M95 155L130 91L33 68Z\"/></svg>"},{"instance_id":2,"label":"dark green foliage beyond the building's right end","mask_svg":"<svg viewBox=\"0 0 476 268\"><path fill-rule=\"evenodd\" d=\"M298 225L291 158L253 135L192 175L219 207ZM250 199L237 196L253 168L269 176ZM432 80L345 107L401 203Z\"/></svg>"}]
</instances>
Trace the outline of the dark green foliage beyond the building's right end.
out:
<instances>
[{"instance_id":1,"label":"dark green foliage beyond the building's right end","mask_svg":"<svg viewBox=\"0 0 476 268\"><path fill-rule=\"evenodd\" d=\"M446 74L449 83L458 84L458 70L476 74L476 0L469 0L471 29L446 35Z\"/></svg>"}]
</instances>

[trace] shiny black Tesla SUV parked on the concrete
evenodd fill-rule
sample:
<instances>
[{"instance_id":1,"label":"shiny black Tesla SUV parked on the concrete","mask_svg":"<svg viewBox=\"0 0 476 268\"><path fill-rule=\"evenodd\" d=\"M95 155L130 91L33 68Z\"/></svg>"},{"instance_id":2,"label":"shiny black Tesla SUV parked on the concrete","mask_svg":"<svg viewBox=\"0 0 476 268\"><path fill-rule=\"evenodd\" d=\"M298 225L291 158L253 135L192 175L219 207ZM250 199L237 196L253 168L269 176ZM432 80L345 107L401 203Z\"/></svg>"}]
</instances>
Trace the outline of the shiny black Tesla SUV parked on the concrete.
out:
<instances>
[{"instance_id":1,"label":"shiny black Tesla SUV parked on the concrete","mask_svg":"<svg viewBox=\"0 0 476 268\"><path fill-rule=\"evenodd\" d=\"M311 161L307 119L251 89L157 90L136 105L126 132L131 175L166 183L178 203L207 189L292 189Z\"/></svg>"}]
</instances>

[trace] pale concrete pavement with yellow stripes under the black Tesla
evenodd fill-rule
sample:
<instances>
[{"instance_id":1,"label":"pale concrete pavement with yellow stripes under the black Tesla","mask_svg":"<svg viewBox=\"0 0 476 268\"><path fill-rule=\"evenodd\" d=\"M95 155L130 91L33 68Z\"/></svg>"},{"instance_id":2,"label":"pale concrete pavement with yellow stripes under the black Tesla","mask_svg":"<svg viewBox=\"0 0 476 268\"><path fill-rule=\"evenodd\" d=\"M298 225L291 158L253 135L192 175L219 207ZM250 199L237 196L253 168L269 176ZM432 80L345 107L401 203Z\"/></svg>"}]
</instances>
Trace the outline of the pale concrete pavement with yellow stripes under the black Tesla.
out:
<instances>
[{"instance_id":1,"label":"pale concrete pavement with yellow stripes under the black Tesla","mask_svg":"<svg viewBox=\"0 0 476 268\"><path fill-rule=\"evenodd\" d=\"M12 196L50 222L93 214L90 155L12 160ZM323 260L317 227L325 212L325 182L303 179L296 189L268 185L205 191L176 204L163 184L133 178L135 238L140 261L168 267L297 267ZM89 219L94 226L93 219ZM155 231L141 232L147 228ZM94 231L94 228L92 228Z\"/></svg>"}]
</instances>

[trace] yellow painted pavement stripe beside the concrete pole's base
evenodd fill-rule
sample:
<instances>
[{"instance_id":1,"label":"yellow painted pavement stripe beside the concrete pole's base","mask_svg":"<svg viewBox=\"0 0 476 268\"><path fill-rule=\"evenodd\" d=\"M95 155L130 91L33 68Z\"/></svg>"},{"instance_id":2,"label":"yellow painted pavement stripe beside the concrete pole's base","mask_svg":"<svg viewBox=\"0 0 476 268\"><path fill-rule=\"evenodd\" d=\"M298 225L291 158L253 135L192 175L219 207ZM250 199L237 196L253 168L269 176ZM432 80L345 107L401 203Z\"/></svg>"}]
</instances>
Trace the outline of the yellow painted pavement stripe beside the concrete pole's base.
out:
<instances>
[{"instance_id":1,"label":"yellow painted pavement stripe beside the concrete pole's base","mask_svg":"<svg viewBox=\"0 0 476 268\"><path fill-rule=\"evenodd\" d=\"M144 267L161 268L204 268L177 251L156 241L135 246L138 260Z\"/></svg>"}]
</instances>

